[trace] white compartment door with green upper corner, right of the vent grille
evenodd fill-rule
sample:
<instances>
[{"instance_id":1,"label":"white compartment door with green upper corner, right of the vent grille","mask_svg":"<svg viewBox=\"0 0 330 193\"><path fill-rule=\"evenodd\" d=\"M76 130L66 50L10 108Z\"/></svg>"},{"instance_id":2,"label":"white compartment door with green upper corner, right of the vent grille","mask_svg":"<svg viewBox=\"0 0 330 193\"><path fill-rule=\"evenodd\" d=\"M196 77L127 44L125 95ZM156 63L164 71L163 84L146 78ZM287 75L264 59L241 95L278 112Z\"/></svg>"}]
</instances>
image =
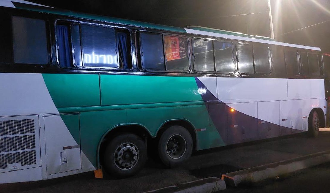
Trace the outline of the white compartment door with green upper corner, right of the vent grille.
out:
<instances>
[{"instance_id":1,"label":"white compartment door with green upper corner, right of the vent grille","mask_svg":"<svg viewBox=\"0 0 330 193\"><path fill-rule=\"evenodd\" d=\"M47 175L81 169L79 114L45 115Z\"/></svg>"}]
</instances>

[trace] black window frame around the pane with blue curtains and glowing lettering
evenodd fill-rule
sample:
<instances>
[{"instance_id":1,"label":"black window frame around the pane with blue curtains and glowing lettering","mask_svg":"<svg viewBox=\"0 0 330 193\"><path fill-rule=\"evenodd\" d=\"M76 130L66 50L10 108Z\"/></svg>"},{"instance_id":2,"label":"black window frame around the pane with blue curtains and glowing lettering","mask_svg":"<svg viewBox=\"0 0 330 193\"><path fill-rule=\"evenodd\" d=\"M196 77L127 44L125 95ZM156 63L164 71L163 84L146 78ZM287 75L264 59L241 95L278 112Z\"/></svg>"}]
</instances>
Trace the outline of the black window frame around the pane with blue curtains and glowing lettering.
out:
<instances>
[{"instance_id":1,"label":"black window frame around the pane with blue curtains and glowing lettering","mask_svg":"<svg viewBox=\"0 0 330 193\"><path fill-rule=\"evenodd\" d=\"M73 64L73 67L68 67L68 68L63 68L60 66L59 64L59 57L58 57L58 44L57 44L57 34L56 34L56 27L57 27L57 22L66 22L66 23L69 23L70 24L70 40L71 40L71 49L72 49L72 64ZM78 24L79 25L79 36L80 36L80 46L81 46L81 56L82 56L82 67L79 67L79 66L76 66L74 61L74 55L75 55L75 52L74 52L74 48L73 48L73 41L72 41L72 33L71 33L71 26L72 24ZM117 50L117 61L118 61L118 67L117 68L113 68L113 67L86 67L84 65L84 57L83 57L83 43L82 43L82 31L81 31L81 24L86 24L86 25L91 25L91 26L102 26L102 27L108 27L108 28L113 28L115 29L115 34L116 34L116 50ZM119 65L119 56L118 56L118 43L117 43L117 29L123 29L123 30L127 30L128 34L129 34L129 53L131 55L131 57L129 57L131 59L131 68L130 69L120 69L120 65ZM89 22L89 21L81 21L81 20L74 20L74 19L63 19L63 18L57 18L55 19L54 21L54 34L55 34L55 48L56 48L56 64L59 68L61 69L84 69L84 70L95 70L95 69L102 69L102 70L112 70L112 71L131 71L134 69L134 59L133 59L133 48L132 48L132 44L131 42L133 41L132 40L132 31L127 28L127 27L121 27L121 26L117 26L117 25L109 25L109 23L92 23L92 22Z\"/></svg>"}]
</instances>

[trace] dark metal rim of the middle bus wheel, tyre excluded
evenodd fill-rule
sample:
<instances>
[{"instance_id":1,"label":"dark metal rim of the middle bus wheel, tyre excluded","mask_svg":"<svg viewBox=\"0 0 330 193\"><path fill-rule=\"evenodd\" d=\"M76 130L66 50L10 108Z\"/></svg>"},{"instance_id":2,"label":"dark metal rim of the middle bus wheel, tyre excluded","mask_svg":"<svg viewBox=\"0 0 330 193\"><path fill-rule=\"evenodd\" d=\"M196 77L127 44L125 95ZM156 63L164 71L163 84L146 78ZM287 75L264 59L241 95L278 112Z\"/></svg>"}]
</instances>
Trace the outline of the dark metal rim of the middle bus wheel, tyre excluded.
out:
<instances>
[{"instance_id":1,"label":"dark metal rim of the middle bus wheel, tyre excluded","mask_svg":"<svg viewBox=\"0 0 330 193\"><path fill-rule=\"evenodd\" d=\"M187 144L181 135L172 135L167 141L167 154L173 159L179 159L185 153Z\"/></svg>"}]
</instances>

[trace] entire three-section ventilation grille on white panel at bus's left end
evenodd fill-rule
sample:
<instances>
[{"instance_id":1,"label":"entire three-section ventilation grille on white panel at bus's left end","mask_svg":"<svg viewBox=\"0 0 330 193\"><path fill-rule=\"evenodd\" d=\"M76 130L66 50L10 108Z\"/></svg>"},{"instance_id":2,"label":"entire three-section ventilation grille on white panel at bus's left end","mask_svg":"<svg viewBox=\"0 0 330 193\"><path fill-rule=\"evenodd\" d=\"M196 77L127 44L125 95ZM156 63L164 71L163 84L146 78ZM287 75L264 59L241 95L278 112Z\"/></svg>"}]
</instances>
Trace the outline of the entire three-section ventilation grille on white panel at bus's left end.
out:
<instances>
[{"instance_id":1,"label":"entire three-section ventilation grille on white panel at bus's left end","mask_svg":"<svg viewBox=\"0 0 330 193\"><path fill-rule=\"evenodd\" d=\"M13 168L8 164L25 169L36 167L40 162L37 157L40 156L39 122L36 120L38 116L0 118L0 172L11 171Z\"/></svg>"}]
</instances>

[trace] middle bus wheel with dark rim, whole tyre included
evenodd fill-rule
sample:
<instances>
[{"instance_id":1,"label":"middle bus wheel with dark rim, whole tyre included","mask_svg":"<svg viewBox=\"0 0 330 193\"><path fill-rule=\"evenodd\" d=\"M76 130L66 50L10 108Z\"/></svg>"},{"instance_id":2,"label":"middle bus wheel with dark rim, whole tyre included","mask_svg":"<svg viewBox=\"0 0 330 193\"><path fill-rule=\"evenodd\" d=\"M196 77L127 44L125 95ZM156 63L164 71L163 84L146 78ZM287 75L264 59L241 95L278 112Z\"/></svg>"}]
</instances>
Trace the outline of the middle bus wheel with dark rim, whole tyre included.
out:
<instances>
[{"instance_id":1,"label":"middle bus wheel with dark rim, whole tyre included","mask_svg":"<svg viewBox=\"0 0 330 193\"><path fill-rule=\"evenodd\" d=\"M166 166L173 168L191 156L192 146L190 133L184 127L171 126L159 139L159 157Z\"/></svg>"}]
</instances>

